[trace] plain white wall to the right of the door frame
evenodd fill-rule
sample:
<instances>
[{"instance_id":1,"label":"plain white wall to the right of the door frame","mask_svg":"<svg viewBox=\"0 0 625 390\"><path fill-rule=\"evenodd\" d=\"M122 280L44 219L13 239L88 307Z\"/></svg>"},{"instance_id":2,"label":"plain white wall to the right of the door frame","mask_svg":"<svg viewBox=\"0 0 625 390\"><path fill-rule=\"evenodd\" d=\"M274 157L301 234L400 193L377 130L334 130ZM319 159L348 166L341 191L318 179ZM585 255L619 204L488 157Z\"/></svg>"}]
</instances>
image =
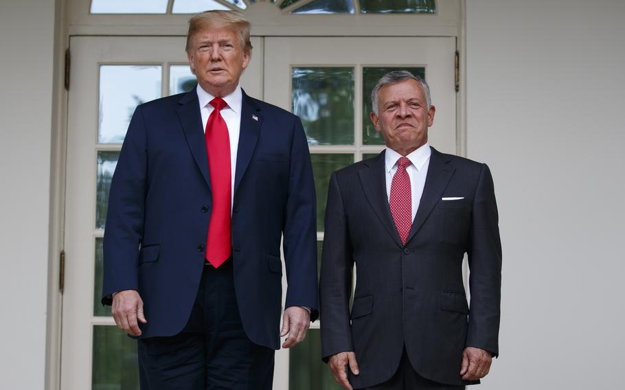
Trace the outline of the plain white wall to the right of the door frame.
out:
<instances>
[{"instance_id":1,"label":"plain white wall to the right of the door frame","mask_svg":"<svg viewBox=\"0 0 625 390\"><path fill-rule=\"evenodd\" d=\"M503 240L480 390L622 388L625 1L466 3L468 157L492 169Z\"/></svg>"}]
</instances>

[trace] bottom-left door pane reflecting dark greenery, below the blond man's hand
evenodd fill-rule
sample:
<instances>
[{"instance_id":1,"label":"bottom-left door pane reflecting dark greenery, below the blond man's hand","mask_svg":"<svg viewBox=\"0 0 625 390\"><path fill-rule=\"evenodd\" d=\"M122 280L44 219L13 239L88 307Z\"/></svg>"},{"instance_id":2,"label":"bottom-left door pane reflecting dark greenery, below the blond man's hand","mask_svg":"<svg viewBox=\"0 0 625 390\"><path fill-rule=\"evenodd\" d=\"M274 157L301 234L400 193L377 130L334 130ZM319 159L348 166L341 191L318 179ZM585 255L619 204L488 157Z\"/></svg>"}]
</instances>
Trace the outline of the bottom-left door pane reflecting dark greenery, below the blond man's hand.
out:
<instances>
[{"instance_id":1,"label":"bottom-left door pane reflecting dark greenery, below the blond man's hand","mask_svg":"<svg viewBox=\"0 0 625 390\"><path fill-rule=\"evenodd\" d=\"M111 325L93 327L93 390L138 390L137 341Z\"/></svg>"}]
</instances>

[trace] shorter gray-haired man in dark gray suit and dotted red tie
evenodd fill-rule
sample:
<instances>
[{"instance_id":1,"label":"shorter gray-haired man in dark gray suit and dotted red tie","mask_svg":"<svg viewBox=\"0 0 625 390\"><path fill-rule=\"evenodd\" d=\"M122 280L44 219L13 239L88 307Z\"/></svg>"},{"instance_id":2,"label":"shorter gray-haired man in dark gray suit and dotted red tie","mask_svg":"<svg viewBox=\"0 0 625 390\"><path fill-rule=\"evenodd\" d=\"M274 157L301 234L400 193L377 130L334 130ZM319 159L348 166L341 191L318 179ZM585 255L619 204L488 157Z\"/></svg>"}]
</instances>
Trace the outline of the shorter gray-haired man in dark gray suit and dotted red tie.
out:
<instances>
[{"instance_id":1,"label":"shorter gray-haired man in dark gray suit and dotted red tie","mask_svg":"<svg viewBox=\"0 0 625 390\"><path fill-rule=\"evenodd\" d=\"M435 108L421 78L387 73L372 103L387 148L330 179L323 357L346 389L463 389L499 353L501 242L490 170L427 144Z\"/></svg>"}]
</instances>

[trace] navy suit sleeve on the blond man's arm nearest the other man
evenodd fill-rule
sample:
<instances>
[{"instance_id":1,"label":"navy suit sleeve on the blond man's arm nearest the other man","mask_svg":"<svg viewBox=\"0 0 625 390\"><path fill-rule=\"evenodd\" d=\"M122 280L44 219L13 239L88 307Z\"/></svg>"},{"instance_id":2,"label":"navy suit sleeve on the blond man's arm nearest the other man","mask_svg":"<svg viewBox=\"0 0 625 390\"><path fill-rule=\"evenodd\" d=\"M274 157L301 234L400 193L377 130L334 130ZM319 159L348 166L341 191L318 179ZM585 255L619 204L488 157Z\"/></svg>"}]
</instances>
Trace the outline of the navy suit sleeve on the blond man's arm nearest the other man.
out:
<instances>
[{"instance_id":1,"label":"navy suit sleeve on the blond man's arm nearest the other man","mask_svg":"<svg viewBox=\"0 0 625 390\"><path fill-rule=\"evenodd\" d=\"M295 119L284 212L285 307L310 308L319 317L317 294L317 203L308 142L302 122Z\"/></svg>"}]
</instances>

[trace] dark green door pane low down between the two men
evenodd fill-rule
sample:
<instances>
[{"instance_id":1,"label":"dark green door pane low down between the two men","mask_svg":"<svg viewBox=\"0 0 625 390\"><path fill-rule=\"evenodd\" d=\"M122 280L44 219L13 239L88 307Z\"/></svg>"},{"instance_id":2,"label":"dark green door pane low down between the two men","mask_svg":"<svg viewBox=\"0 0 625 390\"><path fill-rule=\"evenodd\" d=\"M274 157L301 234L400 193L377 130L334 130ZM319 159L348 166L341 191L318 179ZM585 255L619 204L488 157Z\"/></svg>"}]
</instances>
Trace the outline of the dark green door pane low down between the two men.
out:
<instances>
[{"instance_id":1,"label":"dark green door pane low down between the two men","mask_svg":"<svg viewBox=\"0 0 625 390\"><path fill-rule=\"evenodd\" d=\"M288 356L288 388L290 390L340 390L326 363L321 361L321 334L310 329L306 339Z\"/></svg>"}]
</instances>

